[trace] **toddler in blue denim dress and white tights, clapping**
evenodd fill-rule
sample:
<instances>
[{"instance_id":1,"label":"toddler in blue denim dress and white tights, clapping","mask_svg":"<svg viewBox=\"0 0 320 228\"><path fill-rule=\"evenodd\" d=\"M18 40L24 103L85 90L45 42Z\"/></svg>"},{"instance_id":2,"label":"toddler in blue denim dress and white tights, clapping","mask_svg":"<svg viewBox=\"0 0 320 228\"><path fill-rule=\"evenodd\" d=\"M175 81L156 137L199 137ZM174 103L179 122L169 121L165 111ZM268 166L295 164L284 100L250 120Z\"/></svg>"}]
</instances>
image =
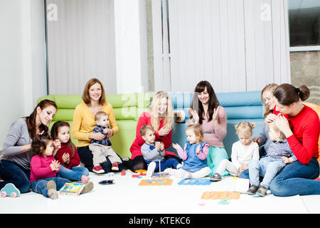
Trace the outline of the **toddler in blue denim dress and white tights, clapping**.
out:
<instances>
[{"instance_id":1,"label":"toddler in blue denim dress and white tights, clapping","mask_svg":"<svg viewBox=\"0 0 320 228\"><path fill-rule=\"evenodd\" d=\"M178 170L166 169L169 175L179 178L201 178L210 174L210 168L207 165L206 157L208 155L209 145L203 142L203 130L201 125L188 125L186 128L187 142L184 150L178 144L172 146L178 152L183 160L183 165Z\"/></svg>"}]
</instances>

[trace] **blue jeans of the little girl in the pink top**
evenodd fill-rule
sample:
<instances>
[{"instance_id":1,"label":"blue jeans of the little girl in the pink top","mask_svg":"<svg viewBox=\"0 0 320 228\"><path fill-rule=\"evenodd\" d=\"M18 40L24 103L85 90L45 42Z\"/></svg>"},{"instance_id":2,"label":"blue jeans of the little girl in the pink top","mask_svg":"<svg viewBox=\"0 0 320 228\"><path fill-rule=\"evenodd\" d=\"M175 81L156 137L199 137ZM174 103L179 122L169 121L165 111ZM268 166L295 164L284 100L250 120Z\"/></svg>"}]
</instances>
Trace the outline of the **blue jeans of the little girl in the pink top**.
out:
<instances>
[{"instance_id":1,"label":"blue jeans of the little girl in the pink top","mask_svg":"<svg viewBox=\"0 0 320 228\"><path fill-rule=\"evenodd\" d=\"M56 189L57 191L60 190L60 188L63 187L63 185L65 185L65 183L70 182L70 180L67 180L62 177L48 177L48 178L35 180L31 182L31 188L33 192L42 194L44 197L48 198L49 196L48 196L47 183L50 180L53 180L55 182L55 185L57 185L57 189Z\"/></svg>"}]
</instances>

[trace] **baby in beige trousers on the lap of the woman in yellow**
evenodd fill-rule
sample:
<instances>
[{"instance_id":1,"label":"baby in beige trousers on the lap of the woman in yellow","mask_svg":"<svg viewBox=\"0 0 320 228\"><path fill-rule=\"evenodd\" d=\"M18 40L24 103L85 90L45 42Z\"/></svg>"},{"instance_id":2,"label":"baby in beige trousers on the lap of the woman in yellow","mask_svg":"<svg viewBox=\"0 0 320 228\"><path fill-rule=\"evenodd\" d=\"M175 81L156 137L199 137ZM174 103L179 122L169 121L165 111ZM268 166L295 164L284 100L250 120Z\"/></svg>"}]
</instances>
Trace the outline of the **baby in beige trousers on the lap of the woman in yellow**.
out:
<instances>
[{"instance_id":1,"label":"baby in beige trousers on the lap of the woman in yellow","mask_svg":"<svg viewBox=\"0 0 320 228\"><path fill-rule=\"evenodd\" d=\"M97 126L93 129L93 133L102 133L103 135L107 135L109 132L109 117L105 112L97 112L95 114L95 123ZM95 173L105 172L101 163L107 162L105 157L108 157L110 162L112 163L111 170L117 171L119 170L118 164L121 164L122 161L117 153L112 149L110 140L106 137L103 140L91 140L91 144L89 145L89 149L93 155L93 169L92 171Z\"/></svg>"}]
</instances>

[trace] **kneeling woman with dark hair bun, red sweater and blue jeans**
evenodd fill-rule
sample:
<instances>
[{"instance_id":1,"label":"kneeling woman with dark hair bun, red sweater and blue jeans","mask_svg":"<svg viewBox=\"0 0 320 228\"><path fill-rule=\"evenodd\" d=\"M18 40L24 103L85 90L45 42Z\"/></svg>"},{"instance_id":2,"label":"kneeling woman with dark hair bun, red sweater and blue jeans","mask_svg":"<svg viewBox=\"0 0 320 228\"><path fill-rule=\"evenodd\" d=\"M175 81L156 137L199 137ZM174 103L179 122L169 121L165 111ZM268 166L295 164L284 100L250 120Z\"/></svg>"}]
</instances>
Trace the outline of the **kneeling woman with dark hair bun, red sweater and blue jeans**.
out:
<instances>
[{"instance_id":1,"label":"kneeling woman with dark hair bun, red sweater and blue jeans","mask_svg":"<svg viewBox=\"0 0 320 228\"><path fill-rule=\"evenodd\" d=\"M306 86L295 88L284 83L274 90L274 123L282 130L289 147L297 157L286 165L270 184L276 196L320 195L319 177L319 129L318 114L299 100L309 98Z\"/></svg>"}]
</instances>

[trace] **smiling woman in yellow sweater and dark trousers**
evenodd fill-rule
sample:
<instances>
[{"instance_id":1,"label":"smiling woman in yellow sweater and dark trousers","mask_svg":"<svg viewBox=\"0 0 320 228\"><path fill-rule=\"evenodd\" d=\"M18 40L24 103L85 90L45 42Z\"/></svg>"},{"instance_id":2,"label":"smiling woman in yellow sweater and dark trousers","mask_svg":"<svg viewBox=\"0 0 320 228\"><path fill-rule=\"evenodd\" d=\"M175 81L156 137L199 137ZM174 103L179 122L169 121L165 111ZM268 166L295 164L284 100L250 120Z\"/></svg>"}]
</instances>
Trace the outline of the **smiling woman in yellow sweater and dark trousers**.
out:
<instances>
[{"instance_id":1,"label":"smiling woman in yellow sweater and dark trousers","mask_svg":"<svg viewBox=\"0 0 320 228\"><path fill-rule=\"evenodd\" d=\"M105 90L102 83L97 78L92 78L85 84L82 93L83 102L75 108L73 114L73 128L71 135L78 140L78 154L82 163L88 170L92 171L93 161L92 152L89 150L90 141L103 140L105 137L111 138L119 130L115 120L112 105L105 100ZM93 133L95 128L95 113L103 111L107 113L110 121L110 129L106 128L105 133ZM106 157L107 162L101 164L105 173L110 172L112 163ZM119 164L119 171L123 170L123 163Z\"/></svg>"}]
</instances>

